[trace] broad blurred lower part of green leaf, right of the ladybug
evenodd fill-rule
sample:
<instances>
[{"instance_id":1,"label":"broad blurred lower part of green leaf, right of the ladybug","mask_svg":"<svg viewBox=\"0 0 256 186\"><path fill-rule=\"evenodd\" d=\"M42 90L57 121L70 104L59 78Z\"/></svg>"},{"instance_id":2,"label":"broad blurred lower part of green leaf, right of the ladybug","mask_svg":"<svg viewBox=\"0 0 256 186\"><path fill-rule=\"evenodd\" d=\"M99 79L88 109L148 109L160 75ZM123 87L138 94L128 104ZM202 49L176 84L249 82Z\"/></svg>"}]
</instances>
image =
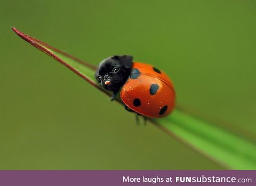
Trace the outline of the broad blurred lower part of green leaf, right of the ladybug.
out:
<instances>
[{"instance_id":1,"label":"broad blurred lower part of green leaf, right of the ladybug","mask_svg":"<svg viewBox=\"0 0 256 186\"><path fill-rule=\"evenodd\" d=\"M179 109L156 122L223 166L236 170L256 168L256 146L251 141L237 137Z\"/></svg>"}]
</instances>

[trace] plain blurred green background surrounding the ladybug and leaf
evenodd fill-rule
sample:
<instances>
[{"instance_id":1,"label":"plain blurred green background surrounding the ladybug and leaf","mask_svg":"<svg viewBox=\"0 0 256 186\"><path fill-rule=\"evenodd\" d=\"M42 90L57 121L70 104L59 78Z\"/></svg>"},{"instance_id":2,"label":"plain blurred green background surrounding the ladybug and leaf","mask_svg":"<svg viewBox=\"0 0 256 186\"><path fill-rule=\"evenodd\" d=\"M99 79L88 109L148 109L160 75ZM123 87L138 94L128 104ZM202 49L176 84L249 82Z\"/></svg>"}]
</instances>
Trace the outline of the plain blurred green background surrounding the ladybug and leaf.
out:
<instances>
[{"instance_id":1,"label":"plain blurred green background surrounding the ladybug and leaf","mask_svg":"<svg viewBox=\"0 0 256 186\"><path fill-rule=\"evenodd\" d=\"M256 136L255 1L2 1L1 170L219 170L18 38L98 64L114 54L164 69L177 103Z\"/></svg>"}]
</instances>

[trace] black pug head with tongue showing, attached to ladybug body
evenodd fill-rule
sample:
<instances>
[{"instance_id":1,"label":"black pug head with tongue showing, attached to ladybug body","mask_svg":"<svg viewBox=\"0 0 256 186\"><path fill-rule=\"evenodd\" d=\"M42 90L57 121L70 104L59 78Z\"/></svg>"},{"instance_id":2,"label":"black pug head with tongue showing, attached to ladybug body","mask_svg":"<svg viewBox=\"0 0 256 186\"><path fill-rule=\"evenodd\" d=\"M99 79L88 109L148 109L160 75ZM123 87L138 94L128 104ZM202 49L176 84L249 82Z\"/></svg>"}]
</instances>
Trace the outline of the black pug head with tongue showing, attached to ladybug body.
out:
<instances>
[{"instance_id":1,"label":"black pug head with tongue showing, attached to ladybug body","mask_svg":"<svg viewBox=\"0 0 256 186\"><path fill-rule=\"evenodd\" d=\"M95 78L104 89L117 92L129 77L132 58L132 56L123 55L103 60L95 72Z\"/></svg>"}]
</instances>

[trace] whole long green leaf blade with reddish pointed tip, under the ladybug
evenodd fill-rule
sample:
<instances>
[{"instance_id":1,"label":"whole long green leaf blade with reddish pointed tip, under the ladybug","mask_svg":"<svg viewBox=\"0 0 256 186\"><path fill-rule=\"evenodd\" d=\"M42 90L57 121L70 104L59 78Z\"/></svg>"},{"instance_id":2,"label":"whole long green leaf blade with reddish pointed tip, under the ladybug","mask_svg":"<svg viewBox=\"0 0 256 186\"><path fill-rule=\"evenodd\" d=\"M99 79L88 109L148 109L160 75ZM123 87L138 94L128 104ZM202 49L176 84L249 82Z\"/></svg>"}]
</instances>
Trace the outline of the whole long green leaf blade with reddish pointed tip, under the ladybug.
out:
<instances>
[{"instance_id":1,"label":"whole long green leaf blade with reddish pointed tip, under the ladybug","mask_svg":"<svg viewBox=\"0 0 256 186\"><path fill-rule=\"evenodd\" d=\"M105 92L108 96L111 95L110 92L102 89L95 80L95 66L25 35L15 28L12 29L22 39L67 66L95 88ZM117 101L122 103L119 98ZM235 170L256 169L255 143L238 137L209 122L199 120L180 109L174 109L171 115L164 118L149 119L149 121L159 129L171 134L177 140L223 167Z\"/></svg>"}]
</instances>

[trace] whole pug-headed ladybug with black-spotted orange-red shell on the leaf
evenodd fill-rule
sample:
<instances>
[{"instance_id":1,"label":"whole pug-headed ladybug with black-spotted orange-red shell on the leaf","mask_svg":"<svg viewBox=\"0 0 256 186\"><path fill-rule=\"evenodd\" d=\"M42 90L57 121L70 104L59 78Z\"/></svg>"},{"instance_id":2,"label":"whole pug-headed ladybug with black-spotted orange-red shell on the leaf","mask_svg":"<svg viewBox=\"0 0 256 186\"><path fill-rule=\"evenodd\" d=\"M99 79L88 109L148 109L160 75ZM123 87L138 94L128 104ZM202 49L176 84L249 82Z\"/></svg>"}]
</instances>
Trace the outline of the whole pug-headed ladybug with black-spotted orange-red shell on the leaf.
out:
<instances>
[{"instance_id":1,"label":"whole pug-headed ladybug with black-spotted orange-red shell on the leaf","mask_svg":"<svg viewBox=\"0 0 256 186\"><path fill-rule=\"evenodd\" d=\"M127 111L153 118L170 114L175 103L172 81L155 66L132 60L129 55L106 58L99 64L95 78L113 92L111 101L120 92Z\"/></svg>"}]
</instances>

